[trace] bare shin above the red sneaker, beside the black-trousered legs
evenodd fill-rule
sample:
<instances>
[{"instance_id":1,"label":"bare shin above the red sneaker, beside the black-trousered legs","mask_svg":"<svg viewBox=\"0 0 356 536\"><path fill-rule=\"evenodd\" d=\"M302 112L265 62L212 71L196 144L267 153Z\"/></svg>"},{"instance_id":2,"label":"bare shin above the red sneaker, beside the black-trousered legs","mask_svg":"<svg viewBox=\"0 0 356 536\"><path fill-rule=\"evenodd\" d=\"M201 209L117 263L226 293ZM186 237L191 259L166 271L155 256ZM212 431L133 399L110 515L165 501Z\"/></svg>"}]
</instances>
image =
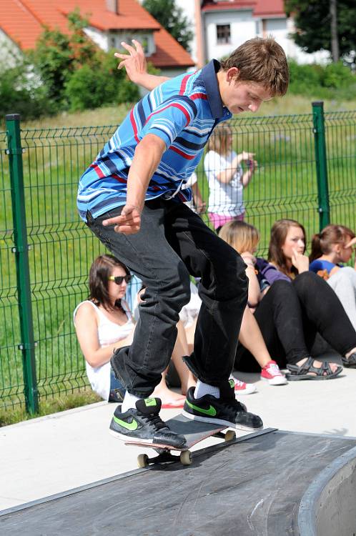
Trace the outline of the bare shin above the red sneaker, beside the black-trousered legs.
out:
<instances>
[{"instance_id":1,"label":"bare shin above the red sneaker, beside the black-trousered legs","mask_svg":"<svg viewBox=\"0 0 356 536\"><path fill-rule=\"evenodd\" d=\"M262 369L271 361L272 358L267 350L266 344L264 344L264 339L257 321L248 307L244 309L241 328L239 330L239 342L249 350Z\"/></svg>"}]
</instances>

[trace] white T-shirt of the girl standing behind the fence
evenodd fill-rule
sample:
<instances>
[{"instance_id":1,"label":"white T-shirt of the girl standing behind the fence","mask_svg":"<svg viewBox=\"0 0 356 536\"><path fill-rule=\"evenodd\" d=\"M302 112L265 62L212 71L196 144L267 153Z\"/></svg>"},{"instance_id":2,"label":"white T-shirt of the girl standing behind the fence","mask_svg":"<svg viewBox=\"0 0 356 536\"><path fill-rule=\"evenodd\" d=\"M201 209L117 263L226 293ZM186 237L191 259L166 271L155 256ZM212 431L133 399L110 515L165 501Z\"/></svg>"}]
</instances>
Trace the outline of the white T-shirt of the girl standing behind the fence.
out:
<instances>
[{"instance_id":1,"label":"white T-shirt of the girl standing behind the fence","mask_svg":"<svg viewBox=\"0 0 356 536\"><path fill-rule=\"evenodd\" d=\"M217 178L225 169L231 169L231 162L236 156L234 151L224 156L214 151L205 155L204 172L209 184L208 212L222 216L239 216L244 213L242 167L237 166L236 173L227 184Z\"/></svg>"}]
</instances>

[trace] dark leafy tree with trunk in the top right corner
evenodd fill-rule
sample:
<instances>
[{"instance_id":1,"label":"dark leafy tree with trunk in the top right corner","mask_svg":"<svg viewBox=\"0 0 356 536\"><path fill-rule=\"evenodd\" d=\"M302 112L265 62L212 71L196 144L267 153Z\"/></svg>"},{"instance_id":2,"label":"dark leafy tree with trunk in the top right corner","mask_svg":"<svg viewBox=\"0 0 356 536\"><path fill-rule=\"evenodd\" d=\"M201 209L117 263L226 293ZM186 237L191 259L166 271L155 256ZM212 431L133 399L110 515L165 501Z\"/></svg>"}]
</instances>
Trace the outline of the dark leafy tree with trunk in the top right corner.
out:
<instances>
[{"instance_id":1,"label":"dark leafy tree with trunk in the top right corner","mask_svg":"<svg viewBox=\"0 0 356 536\"><path fill-rule=\"evenodd\" d=\"M330 11L331 7L331 11ZM336 8L337 25L333 9ZM332 37L338 37L340 56L350 61L356 51L355 0L285 0L285 11L292 15L296 32L295 43L306 52L332 51ZM332 26L332 21L334 22ZM336 59L336 54L335 54Z\"/></svg>"}]
</instances>

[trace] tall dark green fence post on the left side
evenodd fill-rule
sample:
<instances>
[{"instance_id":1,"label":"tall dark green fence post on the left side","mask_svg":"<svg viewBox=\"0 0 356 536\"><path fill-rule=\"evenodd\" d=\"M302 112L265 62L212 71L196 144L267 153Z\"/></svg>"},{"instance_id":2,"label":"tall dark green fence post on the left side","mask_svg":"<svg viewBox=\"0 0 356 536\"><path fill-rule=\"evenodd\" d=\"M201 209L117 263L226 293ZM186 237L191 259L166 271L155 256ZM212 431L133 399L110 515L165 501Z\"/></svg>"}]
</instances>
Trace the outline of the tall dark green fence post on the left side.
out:
<instances>
[{"instance_id":1,"label":"tall dark green fence post on the left side","mask_svg":"<svg viewBox=\"0 0 356 536\"><path fill-rule=\"evenodd\" d=\"M24 196L24 172L19 114L8 114L6 119L7 154L11 180L11 203L14 220L14 248L16 259L17 293L21 329L22 364L24 367L24 394L26 412L36 413L39 397L34 355L34 322L32 318L31 287L29 277L29 245L27 243Z\"/></svg>"}]
</instances>

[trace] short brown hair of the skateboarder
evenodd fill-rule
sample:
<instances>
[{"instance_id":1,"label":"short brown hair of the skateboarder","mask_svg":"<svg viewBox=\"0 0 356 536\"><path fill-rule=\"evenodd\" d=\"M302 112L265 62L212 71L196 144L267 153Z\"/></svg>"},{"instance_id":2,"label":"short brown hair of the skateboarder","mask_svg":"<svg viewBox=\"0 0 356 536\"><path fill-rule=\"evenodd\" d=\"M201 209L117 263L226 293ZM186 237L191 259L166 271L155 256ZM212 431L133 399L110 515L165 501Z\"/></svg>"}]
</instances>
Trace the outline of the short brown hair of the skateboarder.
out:
<instances>
[{"instance_id":1,"label":"short brown hair of the skateboarder","mask_svg":"<svg viewBox=\"0 0 356 536\"><path fill-rule=\"evenodd\" d=\"M271 96L285 95L290 82L290 70L285 51L272 36L254 37L240 45L221 62L222 70L237 67L237 80L264 86Z\"/></svg>"}]
</instances>

